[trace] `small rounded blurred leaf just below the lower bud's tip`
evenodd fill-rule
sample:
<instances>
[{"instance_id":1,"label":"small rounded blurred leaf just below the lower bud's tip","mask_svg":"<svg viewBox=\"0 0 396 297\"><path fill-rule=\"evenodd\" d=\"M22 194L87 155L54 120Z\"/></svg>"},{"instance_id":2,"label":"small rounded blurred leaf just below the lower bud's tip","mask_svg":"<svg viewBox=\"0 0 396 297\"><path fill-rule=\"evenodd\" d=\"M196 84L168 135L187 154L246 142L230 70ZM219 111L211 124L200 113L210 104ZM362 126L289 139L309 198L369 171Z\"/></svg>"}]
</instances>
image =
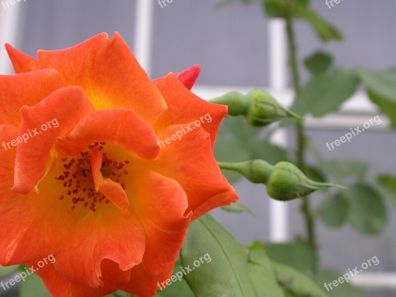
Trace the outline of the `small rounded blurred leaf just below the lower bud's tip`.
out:
<instances>
[{"instance_id":1,"label":"small rounded blurred leaf just below the lower bud's tip","mask_svg":"<svg viewBox=\"0 0 396 297\"><path fill-rule=\"evenodd\" d=\"M330 227L340 228L345 224L349 215L349 201L341 193L328 197L320 207L320 218Z\"/></svg>"}]
</instances>

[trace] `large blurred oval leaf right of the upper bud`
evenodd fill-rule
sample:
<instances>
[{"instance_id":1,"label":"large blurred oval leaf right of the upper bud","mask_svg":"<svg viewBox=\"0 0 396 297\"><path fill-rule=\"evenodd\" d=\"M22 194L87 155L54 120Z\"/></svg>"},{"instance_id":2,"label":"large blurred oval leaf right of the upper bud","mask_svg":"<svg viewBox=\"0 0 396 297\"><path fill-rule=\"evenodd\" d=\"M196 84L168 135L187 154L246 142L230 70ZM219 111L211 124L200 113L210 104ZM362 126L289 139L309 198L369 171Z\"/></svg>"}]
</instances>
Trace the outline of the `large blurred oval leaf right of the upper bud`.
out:
<instances>
[{"instance_id":1,"label":"large blurred oval leaf right of the upper bud","mask_svg":"<svg viewBox=\"0 0 396 297\"><path fill-rule=\"evenodd\" d=\"M316 117L324 116L338 110L353 95L358 83L354 72L346 70L315 76L297 95L291 109L301 116L306 113Z\"/></svg>"}]
</instances>

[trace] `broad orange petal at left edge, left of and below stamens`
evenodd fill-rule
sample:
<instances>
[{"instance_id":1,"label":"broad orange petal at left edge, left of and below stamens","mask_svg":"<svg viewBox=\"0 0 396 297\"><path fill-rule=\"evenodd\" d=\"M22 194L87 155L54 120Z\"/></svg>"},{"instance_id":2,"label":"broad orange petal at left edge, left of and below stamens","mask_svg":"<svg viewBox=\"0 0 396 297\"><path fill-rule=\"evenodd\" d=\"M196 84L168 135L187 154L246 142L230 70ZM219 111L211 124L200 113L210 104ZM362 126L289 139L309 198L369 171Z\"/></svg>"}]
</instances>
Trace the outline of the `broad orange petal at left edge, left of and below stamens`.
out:
<instances>
[{"instance_id":1,"label":"broad orange petal at left edge, left of and below stamens","mask_svg":"<svg viewBox=\"0 0 396 297\"><path fill-rule=\"evenodd\" d=\"M0 126L0 143L15 139L18 129ZM65 213L49 186L44 193L24 196L10 190L15 149L0 149L0 265L44 258L60 250L71 236L74 219Z\"/></svg>"}]
</instances>

